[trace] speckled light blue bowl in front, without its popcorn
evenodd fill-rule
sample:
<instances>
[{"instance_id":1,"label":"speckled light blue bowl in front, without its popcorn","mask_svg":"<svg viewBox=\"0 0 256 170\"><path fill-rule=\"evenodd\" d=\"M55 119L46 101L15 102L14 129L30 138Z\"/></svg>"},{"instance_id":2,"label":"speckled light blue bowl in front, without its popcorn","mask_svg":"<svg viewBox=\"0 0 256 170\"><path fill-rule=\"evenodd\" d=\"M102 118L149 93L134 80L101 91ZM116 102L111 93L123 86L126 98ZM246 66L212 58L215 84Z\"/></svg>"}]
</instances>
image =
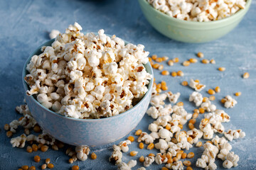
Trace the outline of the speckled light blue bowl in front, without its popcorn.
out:
<instances>
[{"instance_id":1,"label":"speckled light blue bowl in front, without its popcorn","mask_svg":"<svg viewBox=\"0 0 256 170\"><path fill-rule=\"evenodd\" d=\"M23 67L22 79L28 74L26 65L31 60L31 57L33 55L40 55L41 47L49 46L53 41L54 40L50 40L44 43L28 57ZM146 72L153 75L153 70L149 62L144 66L146 67ZM29 86L24 79L22 81L24 89L27 91ZM119 115L101 119L75 119L65 117L43 107L33 96L25 95L25 98L28 108L38 124L43 130L48 132L48 134L55 137L55 139L70 145L98 147L119 140L138 125L149 106L152 86L153 79L151 79L148 84L149 91L146 92L142 100L133 108Z\"/></svg>"}]
</instances>

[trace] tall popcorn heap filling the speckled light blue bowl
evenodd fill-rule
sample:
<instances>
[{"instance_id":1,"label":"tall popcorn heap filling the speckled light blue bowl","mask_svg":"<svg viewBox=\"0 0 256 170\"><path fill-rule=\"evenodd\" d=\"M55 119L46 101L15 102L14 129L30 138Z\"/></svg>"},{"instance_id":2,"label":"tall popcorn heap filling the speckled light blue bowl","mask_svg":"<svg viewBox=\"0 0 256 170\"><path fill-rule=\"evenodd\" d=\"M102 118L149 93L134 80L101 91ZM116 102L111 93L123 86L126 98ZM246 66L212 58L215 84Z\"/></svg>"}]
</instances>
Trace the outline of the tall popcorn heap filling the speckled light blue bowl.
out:
<instances>
[{"instance_id":1,"label":"tall popcorn heap filling the speckled light blue bowl","mask_svg":"<svg viewBox=\"0 0 256 170\"><path fill-rule=\"evenodd\" d=\"M30 90L46 108L73 118L104 118L127 111L146 94L151 74L144 64L144 45L80 32L75 23L58 34L51 46L34 55L24 77ZM55 32L51 37L54 37Z\"/></svg>"}]
</instances>

